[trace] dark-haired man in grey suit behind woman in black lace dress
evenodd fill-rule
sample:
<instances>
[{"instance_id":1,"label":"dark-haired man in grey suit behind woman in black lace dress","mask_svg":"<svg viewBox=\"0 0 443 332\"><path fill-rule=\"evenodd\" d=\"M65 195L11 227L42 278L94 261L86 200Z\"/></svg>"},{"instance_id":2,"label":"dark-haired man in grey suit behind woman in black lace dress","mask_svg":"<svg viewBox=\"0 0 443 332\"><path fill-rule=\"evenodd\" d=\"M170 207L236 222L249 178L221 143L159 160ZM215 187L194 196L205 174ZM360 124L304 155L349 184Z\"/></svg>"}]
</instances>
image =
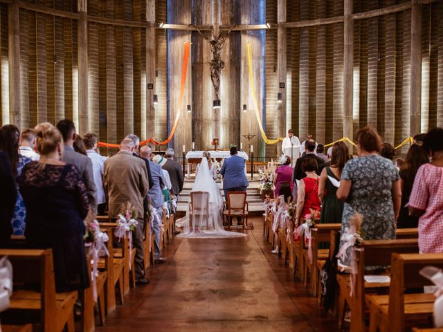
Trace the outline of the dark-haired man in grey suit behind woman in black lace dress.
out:
<instances>
[{"instance_id":1,"label":"dark-haired man in grey suit behind woman in black lace dress","mask_svg":"<svg viewBox=\"0 0 443 332\"><path fill-rule=\"evenodd\" d=\"M92 162L84 154L75 152L74 141L77 137L75 133L74 122L68 119L61 120L57 123L57 129L62 133L64 142L64 151L62 161L66 164L74 165L82 174L82 178L87 187L89 202L93 210L97 210L96 204L96 184L94 183L94 176L92 171Z\"/></svg>"}]
</instances>

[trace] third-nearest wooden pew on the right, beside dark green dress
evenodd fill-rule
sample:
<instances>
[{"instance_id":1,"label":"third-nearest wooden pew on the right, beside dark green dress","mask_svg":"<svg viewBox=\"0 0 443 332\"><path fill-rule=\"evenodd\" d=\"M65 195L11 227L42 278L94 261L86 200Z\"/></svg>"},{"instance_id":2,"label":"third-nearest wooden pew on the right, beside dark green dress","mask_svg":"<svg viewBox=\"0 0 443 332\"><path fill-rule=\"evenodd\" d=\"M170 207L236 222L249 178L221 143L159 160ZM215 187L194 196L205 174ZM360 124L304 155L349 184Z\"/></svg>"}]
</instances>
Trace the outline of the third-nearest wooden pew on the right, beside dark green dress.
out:
<instances>
[{"instance_id":1,"label":"third-nearest wooden pew on the right, beside dark green dress","mask_svg":"<svg viewBox=\"0 0 443 332\"><path fill-rule=\"evenodd\" d=\"M310 290L317 296L317 285L320 275L320 270L323 268L323 264L327 257L329 257L329 249L318 249L318 243L329 243L331 239L331 232L333 230L340 230L341 223L318 223L316 227L311 230L311 249L312 249L312 263L309 264L308 250L305 248L303 250L303 259L306 261L305 264L305 288L307 285L307 272L310 273ZM317 261L323 261L321 267L318 268Z\"/></svg>"}]
</instances>

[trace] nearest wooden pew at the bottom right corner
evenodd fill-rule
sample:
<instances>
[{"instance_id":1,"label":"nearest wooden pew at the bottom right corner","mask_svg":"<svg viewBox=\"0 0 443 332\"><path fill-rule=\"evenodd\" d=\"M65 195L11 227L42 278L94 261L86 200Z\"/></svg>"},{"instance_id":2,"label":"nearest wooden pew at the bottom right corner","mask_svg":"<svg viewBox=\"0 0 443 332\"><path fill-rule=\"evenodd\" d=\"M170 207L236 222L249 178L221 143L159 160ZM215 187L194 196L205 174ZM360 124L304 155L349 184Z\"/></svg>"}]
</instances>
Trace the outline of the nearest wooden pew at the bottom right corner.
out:
<instances>
[{"instance_id":1,"label":"nearest wooden pew at the bottom right corner","mask_svg":"<svg viewBox=\"0 0 443 332\"><path fill-rule=\"evenodd\" d=\"M443 268L440 254L392 254L389 295L365 295L370 307L370 331L404 331L408 320L428 319L433 314L433 293L405 294L406 288L433 285L419 275L426 266Z\"/></svg>"}]
</instances>

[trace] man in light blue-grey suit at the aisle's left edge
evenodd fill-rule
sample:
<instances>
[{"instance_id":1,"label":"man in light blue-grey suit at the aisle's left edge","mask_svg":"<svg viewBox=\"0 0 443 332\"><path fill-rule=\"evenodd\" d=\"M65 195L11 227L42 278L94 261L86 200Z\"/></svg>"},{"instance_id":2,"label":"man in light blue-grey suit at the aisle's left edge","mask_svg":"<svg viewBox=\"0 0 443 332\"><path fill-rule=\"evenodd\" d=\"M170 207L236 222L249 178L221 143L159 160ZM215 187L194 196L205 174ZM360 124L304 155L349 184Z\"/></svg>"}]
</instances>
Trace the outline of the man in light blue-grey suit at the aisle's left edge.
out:
<instances>
[{"instance_id":1,"label":"man in light blue-grey suit at the aisle's left edge","mask_svg":"<svg viewBox=\"0 0 443 332\"><path fill-rule=\"evenodd\" d=\"M165 178L163 177L163 171L160 165L153 163L150 158L152 154L152 149L149 145L143 145L140 149L140 156L145 160L146 163L150 164L151 176L152 176L152 187L147 192L147 198L149 199L152 208L154 208L159 215L159 219L154 218L152 222L152 230L154 231L154 259L155 263L164 263L165 258L161 257L160 250L160 228L163 216L163 185L165 183Z\"/></svg>"}]
</instances>

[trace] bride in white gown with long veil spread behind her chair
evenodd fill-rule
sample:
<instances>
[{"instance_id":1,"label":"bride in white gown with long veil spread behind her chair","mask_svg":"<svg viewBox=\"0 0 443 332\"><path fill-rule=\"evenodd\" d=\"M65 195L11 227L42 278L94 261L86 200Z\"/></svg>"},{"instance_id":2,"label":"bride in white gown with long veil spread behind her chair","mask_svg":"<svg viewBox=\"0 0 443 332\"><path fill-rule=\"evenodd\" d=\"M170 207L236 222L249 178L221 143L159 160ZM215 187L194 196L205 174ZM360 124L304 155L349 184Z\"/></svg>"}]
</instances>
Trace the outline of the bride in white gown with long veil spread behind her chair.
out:
<instances>
[{"instance_id":1,"label":"bride in white gown with long veil spread behind her chair","mask_svg":"<svg viewBox=\"0 0 443 332\"><path fill-rule=\"evenodd\" d=\"M223 228L223 197L217 183L214 180L214 174L217 175L217 169L213 163L209 168L208 159L204 158L198 168L195 176L195 183L192 192L208 192L209 208L207 214L195 214L190 223L190 210L186 216L177 220L176 225L183 225L183 232L177 237L194 238L220 238L220 237L246 237L244 233L228 232ZM198 204L199 202L197 202Z\"/></svg>"}]
</instances>

